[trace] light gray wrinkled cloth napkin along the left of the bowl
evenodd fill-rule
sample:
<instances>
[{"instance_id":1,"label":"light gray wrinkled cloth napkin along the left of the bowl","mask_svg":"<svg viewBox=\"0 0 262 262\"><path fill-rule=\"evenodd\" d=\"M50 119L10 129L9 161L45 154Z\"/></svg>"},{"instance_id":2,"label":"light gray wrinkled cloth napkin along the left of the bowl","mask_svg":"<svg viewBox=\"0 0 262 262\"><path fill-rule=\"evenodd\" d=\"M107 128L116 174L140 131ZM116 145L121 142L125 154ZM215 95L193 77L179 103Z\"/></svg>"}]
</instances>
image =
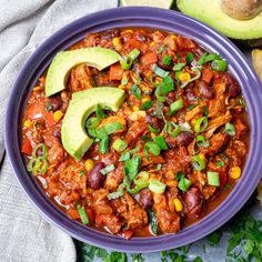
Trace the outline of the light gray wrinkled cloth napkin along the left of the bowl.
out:
<instances>
[{"instance_id":1,"label":"light gray wrinkled cloth napkin along the left of the bowl","mask_svg":"<svg viewBox=\"0 0 262 262\"><path fill-rule=\"evenodd\" d=\"M7 101L28 57L70 21L117 6L117 0L0 0L0 161ZM72 239L42 219L4 157L0 167L0 261L71 262L75 258Z\"/></svg>"}]
</instances>

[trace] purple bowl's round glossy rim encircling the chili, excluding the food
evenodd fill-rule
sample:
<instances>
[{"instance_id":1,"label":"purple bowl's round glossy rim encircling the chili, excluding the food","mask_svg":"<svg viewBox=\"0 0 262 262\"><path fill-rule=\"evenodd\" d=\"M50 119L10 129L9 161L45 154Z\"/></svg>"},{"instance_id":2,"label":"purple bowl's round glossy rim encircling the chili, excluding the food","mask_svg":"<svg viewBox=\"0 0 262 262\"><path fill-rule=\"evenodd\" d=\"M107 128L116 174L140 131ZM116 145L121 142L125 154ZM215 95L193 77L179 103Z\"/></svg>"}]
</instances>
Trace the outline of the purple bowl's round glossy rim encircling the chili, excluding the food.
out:
<instances>
[{"instance_id":1,"label":"purple bowl's round glossy rim encircling the chili, excluding the food","mask_svg":"<svg viewBox=\"0 0 262 262\"><path fill-rule=\"evenodd\" d=\"M178 234L124 240L69 219L44 194L36 179L27 173L19 149L19 124L21 115L38 78L47 69L54 54L81 40L87 33L112 28L142 27L167 30L194 39L211 52L219 52L229 62L229 69L241 84L248 103L251 125L250 152L243 175L230 195L212 213L200 222L183 229ZM155 8L118 8L83 17L50 37L30 57L21 70L8 104L6 119L6 148L14 174L23 191L43 216L75 239L97 246L128 252L155 252L178 248L211 233L229 221L254 191L261 173L262 144L262 88L243 54L228 39L175 11Z\"/></svg>"}]
</instances>

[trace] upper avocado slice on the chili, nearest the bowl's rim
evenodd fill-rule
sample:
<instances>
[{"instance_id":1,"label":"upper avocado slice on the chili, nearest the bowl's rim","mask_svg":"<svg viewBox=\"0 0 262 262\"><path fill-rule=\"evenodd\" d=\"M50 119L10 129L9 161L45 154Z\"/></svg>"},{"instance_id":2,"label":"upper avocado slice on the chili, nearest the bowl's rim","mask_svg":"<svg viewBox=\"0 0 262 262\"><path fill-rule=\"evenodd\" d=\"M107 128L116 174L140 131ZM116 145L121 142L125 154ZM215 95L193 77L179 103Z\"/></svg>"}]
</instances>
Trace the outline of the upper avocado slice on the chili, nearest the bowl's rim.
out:
<instances>
[{"instance_id":1,"label":"upper avocado slice on the chili, nearest the bowl's rim","mask_svg":"<svg viewBox=\"0 0 262 262\"><path fill-rule=\"evenodd\" d=\"M103 70L120 60L120 54L107 48L82 48L57 53L50 64L46 80L46 95L50 97L62 91L66 87L70 70L80 64Z\"/></svg>"}]
</instances>

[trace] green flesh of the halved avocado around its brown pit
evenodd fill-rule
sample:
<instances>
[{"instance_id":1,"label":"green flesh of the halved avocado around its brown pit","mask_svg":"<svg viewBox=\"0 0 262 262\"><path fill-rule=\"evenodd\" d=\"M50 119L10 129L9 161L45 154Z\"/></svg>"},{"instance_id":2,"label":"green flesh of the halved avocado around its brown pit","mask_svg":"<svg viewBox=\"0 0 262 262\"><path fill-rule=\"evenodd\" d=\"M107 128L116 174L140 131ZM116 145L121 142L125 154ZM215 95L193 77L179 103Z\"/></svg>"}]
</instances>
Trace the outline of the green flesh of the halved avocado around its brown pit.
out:
<instances>
[{"instance_id":1,"label":"green flesh of the halved avocado around its brown pit","mask_svg":"<svg viewBox=\"0 0 262 262\"><path fill-rule=\"evenodd\" d=\"M183 13L213 27L229 38L262 38L262 12L250 20L236 20L222 11L221 0L178 0L177 4Z\"/></svg>"}]
</instances>

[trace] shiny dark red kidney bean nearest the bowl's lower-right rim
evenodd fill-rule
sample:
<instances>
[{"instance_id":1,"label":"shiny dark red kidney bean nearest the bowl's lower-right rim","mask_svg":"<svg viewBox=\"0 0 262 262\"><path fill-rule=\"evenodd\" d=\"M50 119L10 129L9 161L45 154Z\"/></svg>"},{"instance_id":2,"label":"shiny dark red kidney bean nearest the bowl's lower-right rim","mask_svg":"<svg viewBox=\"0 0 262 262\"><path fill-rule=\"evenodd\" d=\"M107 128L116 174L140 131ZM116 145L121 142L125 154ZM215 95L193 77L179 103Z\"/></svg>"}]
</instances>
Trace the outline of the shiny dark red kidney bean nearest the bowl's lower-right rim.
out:
<instances>
[{"instance_id":1,"label":"shiny dark red kidney bean nearest the bowl's lower-right rim","mask_svg":"<svg viewBox=\"0 0 262 262\"><path fill-rule=\"evenodd\" d=\"M199 218L203 211L203 195L198 188L191 188L184 194L184 202L188 206L188 213L195 218Z\"/></svg>"}]
</instances>

